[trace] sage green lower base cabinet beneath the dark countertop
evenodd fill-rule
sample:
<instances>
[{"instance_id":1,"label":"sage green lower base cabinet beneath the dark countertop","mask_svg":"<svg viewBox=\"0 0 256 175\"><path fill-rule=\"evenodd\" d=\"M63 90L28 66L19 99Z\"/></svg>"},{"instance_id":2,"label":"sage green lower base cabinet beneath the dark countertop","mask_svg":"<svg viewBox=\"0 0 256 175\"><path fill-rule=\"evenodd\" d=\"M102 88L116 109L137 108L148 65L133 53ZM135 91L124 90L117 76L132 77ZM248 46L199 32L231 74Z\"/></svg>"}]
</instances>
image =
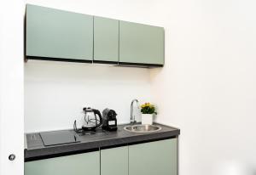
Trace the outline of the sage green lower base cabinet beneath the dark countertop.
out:
<instances>
[{"instance_id":1,"label":"sage green lower base cabinet beneath the dark countertop","mask_svg":"<svg viewBox=\"0 0 256 175\"><path fill-rule=\"evenodd\" d=\"M177 175L177 138L25 162L25 175Z\"/></svg>"}]
</instances>

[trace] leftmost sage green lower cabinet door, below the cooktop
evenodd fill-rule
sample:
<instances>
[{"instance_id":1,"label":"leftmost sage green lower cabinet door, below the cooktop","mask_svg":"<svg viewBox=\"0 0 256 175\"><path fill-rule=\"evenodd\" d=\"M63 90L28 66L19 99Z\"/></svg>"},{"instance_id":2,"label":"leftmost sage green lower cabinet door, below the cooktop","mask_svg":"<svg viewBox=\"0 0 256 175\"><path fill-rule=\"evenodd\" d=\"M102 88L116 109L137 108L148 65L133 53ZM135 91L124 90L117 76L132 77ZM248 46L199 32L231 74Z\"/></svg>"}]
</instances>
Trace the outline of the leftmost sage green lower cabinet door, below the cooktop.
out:
<instances>
[{"instance_id":1,"label":"leftmost sage green lower cabinet door, below the cooktop","mask_svg":"<svg viewBox=\"0 0 256 175\"><path fill-rule=\"evenodd\" d=\"M25 162L25 175L100 175L100 151Z\"/></svg>"}]
</instances>

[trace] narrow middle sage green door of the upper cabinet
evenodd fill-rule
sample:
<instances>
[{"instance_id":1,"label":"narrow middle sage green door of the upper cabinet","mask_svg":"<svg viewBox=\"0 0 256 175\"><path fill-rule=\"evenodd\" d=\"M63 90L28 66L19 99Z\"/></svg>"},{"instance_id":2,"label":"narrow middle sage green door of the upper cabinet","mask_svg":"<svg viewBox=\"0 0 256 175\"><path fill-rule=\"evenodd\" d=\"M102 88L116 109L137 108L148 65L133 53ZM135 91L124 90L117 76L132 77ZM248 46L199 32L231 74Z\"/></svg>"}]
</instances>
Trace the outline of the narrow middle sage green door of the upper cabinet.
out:
<instances>
[{"instance_id":1,"label":"narrow middle sage green door of the upper cabinet","mask_svg":"<svg viewBox=\"0 0 256 175\"><path fill-rule=\"evenodd\" d=\"M119 61L119 20L94 17L94 60Z\"/></svg>"}]
</instances>

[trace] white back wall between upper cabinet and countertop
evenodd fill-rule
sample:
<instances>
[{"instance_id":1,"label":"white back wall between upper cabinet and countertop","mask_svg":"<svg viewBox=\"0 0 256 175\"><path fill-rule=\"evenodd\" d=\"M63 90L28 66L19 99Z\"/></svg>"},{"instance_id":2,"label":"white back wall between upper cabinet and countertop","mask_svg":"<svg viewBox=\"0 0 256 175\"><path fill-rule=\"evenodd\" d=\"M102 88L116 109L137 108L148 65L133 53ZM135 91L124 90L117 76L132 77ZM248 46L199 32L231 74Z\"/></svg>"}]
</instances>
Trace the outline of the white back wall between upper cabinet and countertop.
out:
<instances>
[{"instance_id":1,"label":"white back wall between upper cabinet and countertop","mask_svg":"<svg viewBox=\"0 0 256 175\"><path fill-rule=\"evenodd\" d=\"M72 128L88 106L116 110L118 122L127 123L135 98L150 100L147 69L38 60L25 64L26 132Z\"/></svg>"}]
</instances>

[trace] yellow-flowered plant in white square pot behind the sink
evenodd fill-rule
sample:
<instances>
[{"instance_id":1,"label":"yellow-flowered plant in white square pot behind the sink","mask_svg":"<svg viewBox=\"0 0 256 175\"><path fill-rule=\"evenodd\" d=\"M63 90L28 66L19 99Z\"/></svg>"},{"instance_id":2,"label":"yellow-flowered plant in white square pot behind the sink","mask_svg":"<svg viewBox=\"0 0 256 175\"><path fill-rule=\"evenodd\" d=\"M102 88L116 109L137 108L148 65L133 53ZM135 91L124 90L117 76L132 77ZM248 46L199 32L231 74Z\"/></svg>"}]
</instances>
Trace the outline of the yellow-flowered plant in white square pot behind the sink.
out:
<instances>
[{"instance_id":1,"label":"yellow-flowered plant in white square pot behind the sink","mask_svg":"<svg viewBox=\"0 0 256 175\"><path fill-rule=\"evenodd\" d=\"M153 115L157 114L155 111L155 107L153 104L145 103L141 105L142 112L142 123L145 124L153 124Z\"/></svg>"}]
</instances>

